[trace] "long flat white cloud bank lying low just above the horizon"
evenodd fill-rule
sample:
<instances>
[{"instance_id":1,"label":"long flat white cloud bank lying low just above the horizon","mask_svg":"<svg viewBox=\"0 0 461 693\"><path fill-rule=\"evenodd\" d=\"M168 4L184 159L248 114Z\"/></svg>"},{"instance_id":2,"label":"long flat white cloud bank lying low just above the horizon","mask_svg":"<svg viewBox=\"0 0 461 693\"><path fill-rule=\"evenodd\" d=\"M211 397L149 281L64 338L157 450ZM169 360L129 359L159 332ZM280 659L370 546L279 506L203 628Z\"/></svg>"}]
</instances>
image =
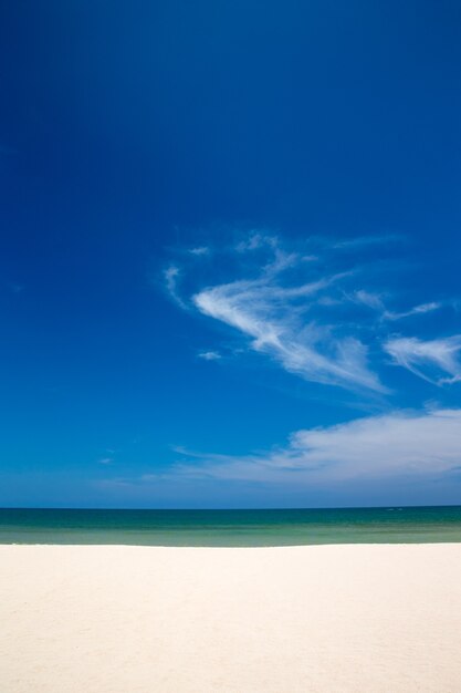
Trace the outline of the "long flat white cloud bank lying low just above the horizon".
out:
<instances>
[{"instance_id":1,"label":"long flat white cloud bank lying low just above the horizon","mask_svg":"<svg viewBox=\"0 0 461 693\"><path fill-rule=\"evenodd\" d=\"M298 431L285 448L180 462L175 477L318 486L327 482L438 476L461 465L461 410L394 412ZM148 479L145 479L148 480Z\"/></svg>"}]
</instances>

